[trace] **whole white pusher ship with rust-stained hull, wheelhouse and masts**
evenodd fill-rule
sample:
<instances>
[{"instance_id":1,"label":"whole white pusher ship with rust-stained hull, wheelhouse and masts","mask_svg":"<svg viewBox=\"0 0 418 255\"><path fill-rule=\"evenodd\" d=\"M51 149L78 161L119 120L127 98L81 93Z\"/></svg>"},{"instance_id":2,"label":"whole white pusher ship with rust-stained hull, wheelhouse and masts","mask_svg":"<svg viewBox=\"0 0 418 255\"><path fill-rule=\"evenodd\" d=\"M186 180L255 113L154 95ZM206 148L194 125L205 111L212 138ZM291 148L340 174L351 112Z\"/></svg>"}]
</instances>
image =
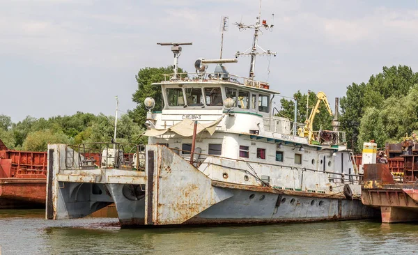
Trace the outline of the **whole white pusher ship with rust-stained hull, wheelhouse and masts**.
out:
<instances>
[{"instance_id":1,"label":"whole white pusher ship with rust-stained hull, wheelhouse and masts","mask_svg":"<svg viewBox=\"0 0 418 255\"><path fill-rule=\"evenodd\" d=\"M109 203L122 227L375 215L362 204L362 172L338 123L332 131L313 130L320 103L332 114L325 93L305 123L275 115L279 92L254 75L258 33L272 26L260 16L255 25L237 25L254 29L250 52L236 54L251 56L249 77L226 70L236 59L198 59L195 73L178 73L182 45L192 43L160 43L171 46L174 68L153 84L162 90L162 111L153 111L153 98L144 102L146 146L48 146L47 219L84 217ZM93 149L101 152L98 167L83 156Z\"/></svg>"}]
</instances>

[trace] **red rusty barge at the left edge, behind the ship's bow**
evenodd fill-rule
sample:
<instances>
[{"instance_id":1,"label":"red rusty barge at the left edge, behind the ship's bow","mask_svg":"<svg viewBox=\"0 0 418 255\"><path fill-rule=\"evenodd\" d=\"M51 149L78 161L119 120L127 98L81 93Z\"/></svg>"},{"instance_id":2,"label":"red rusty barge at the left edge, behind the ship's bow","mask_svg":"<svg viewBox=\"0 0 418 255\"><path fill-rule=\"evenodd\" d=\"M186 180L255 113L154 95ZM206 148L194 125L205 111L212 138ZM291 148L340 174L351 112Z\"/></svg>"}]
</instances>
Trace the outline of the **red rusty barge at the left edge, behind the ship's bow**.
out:
<instances>
[{"instance_id":1,"label":"red rusty barge at the left edge, behind the ship's bow","mask_svg":"<svg viewBox=\"0 0 418 255\"><path fill-rule=\"evenodd\" d=\"M47 153L8 150L0 140L0 209L45 208Z\"/></svg>"}]
</instances>

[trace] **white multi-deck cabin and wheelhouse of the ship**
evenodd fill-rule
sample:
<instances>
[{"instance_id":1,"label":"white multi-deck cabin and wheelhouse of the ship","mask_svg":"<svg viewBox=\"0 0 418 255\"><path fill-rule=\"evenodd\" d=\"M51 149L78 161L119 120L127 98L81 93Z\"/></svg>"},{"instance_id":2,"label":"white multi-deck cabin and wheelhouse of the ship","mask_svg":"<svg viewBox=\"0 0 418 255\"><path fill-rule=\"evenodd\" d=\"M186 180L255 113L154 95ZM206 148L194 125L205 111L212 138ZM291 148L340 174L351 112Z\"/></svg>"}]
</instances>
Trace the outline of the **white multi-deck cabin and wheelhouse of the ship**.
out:
<instances>
[{"instance_id":1,"label":"white multi-deck cabin and wheelhouse of the ship","mask_svg":"<svg viewBox=\"0 0 418 255\"><path fill-rule=\"evenodd\" d=\"M348 151L338 145L309 144L295 132L302 123L274 116L272 100L279 92L269 84L216 73L166 77L154 84L162 88L163 105L162 111L148 112L148 144L163 144L190 160L197 121L192 162L214 155L320 171L334 171L334 162L339 169L352 165Z\"/></svg>"}]
</instances>

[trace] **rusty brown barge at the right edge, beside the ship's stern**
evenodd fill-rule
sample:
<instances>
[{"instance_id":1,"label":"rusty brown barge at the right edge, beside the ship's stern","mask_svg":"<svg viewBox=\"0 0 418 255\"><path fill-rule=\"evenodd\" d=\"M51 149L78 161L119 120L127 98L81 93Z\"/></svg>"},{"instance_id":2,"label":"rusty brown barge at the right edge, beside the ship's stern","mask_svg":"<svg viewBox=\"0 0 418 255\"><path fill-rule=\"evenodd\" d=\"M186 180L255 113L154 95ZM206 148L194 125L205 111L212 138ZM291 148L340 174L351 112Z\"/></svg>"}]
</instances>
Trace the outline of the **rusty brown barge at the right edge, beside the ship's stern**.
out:
<instances>
[{"instance_id":1,"label":"rusty brown barge at the right edge, beside the ship's stern","mask_svg":"<svg viewBox=\"0 0 418 255\"><path fill-rule=\"evenodd\" d=\"M376 155L376 150L373 151ZM418 143L406 139L401 144L387 144L388 163L364 164L362 202L380 209L382 222L418 221Z\"/></svg>"}]
</instances>

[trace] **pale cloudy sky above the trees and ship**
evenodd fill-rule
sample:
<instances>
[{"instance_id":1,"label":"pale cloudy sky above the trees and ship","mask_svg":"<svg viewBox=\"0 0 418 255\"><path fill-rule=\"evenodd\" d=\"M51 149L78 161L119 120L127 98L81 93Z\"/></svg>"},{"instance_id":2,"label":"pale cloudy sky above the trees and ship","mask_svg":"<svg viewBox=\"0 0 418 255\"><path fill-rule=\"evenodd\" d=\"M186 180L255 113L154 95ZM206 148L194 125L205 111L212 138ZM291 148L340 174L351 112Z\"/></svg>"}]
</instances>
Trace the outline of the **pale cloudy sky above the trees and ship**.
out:
<instances>
[{"instance_id":1,"label":"pale cloudy sky above the trees and ship","mask_svg":"<svg viewBox=\"0 0 418 255\"><path fill-rule=\"evenodd\" d=\"M173 63L170 47L184 46L179 66L218 59L220 22L224 58L251 47L258 0L0 0L0 114L13 122L77 111L113 115L118 95L123 112L136 107L132 93L141 68ZM272 16L274 14L274 18ZM353 82L367 82L383 66L418 71L418 0L263 0L258 45L277 56L256 59L256 79L281 95L323 91L346 95ZM248 76L249 57L227 64ZM215 66L209 66L209 72ZM279 102L277 102L279 107Z\"/></svg>"}]
</instances>

